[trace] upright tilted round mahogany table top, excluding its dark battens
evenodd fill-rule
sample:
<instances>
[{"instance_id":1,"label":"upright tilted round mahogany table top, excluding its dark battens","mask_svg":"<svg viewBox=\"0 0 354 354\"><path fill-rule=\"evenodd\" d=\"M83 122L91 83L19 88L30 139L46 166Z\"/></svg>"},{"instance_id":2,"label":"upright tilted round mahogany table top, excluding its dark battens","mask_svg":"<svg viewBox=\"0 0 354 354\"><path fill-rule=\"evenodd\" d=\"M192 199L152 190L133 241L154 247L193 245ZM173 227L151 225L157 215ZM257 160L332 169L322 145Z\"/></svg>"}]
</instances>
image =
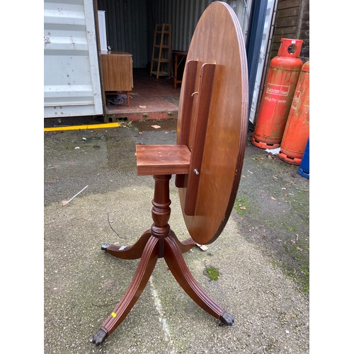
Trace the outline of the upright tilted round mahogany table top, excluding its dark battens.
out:
<instances>
[{"instance_id":1,"label":"upright tilted round mahogany table top, excluding its dark battens","mask_svg":"<svg viewBox=\"0 0 354 354\"><path fill-rule=\"evenodd\" d=\"M184 212L186 186L179 187L178 192L190 236L198 244L211 244L221 234L234 207L248 120L246 48L239 21L228 4L215 1L202 13L186 62L190 60L198 61L197 78L202 64L216 64L194 215ZM178 108L177 143L181 143L184 91L185 73ZM194 118L192 114L187 144L192 152Z\"/></svg>"}]
</instances>

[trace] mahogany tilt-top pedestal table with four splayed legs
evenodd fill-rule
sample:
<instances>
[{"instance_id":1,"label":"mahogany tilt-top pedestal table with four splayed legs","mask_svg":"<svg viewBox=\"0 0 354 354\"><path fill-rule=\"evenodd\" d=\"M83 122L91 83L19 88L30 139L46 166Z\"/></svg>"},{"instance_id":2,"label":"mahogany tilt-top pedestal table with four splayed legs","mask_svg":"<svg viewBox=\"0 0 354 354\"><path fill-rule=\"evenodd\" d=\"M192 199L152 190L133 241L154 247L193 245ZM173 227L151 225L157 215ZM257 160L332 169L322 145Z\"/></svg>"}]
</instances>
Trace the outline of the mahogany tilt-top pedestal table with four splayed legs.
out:
<instances>
[{"instance_id":1,"label":"mahogany tilt-top pedestal table with four splayed legs","mask_svg":"<svg viewBox=\"0 0 354 354\"><path fill-rule=\"evenodd\" d=\"M153 224L125 248L101 249L122 259L140 258L136 273L118 305L93 335L102 344L125 319L141 295L158 258L193 301L229 326L224 311L193 278L183 253L195 243L210 244L232 212L244 161L248 117L246 49L232 8L215 1L208 6L190 42L178 108L174 145L137 145L137 174L153 176ZM176 175L179 199L190 238L179 241L170 229L169 181Z\"/></svg>"}]
</instances>

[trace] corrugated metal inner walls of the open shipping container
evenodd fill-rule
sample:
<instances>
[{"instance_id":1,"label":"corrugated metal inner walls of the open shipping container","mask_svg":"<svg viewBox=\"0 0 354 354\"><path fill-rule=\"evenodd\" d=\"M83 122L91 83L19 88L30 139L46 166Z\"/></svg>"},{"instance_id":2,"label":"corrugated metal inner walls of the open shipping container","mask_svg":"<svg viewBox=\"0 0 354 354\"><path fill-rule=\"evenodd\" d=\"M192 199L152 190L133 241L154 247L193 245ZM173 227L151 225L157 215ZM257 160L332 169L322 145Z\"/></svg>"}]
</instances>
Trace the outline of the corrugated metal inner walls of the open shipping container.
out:
<instances>
[{"instance_id":1,"label":"corrugated metal inner walls of the open shipping container","mask_svg":"<svg viewBox=\"0 0 354 354\"><path fill-rule=\"evenodd\" d=\"M105 11L107 44L132 54L133 67L148 67L156 23L172 24L172 50L188 51L195 26L212 0L97 0ZM246 33L252 0L224 1L236 13ZM246 5L246 6L245 6Z\"/></svg>"}]
</instances>

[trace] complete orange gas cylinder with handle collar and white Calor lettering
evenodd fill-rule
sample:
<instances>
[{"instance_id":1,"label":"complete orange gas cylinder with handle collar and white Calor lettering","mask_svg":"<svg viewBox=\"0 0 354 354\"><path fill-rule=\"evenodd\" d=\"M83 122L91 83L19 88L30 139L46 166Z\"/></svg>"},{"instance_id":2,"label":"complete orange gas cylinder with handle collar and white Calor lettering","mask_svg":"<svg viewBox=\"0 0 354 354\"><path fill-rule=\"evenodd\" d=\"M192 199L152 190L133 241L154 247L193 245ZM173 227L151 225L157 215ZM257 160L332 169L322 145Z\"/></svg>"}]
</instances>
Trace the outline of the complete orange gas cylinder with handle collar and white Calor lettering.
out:
<instances>
[{"instance_id":1,"label":"complete orange gas cylinder with handle collar and white Calor lettering","mask_svg":"<svg viewBox=\"0 0 354 354\"><path fill-rule=\"evenodd\" d=\"M282 38L278 56L270 60L252 143L261 149L280 147L297 79L302 40Z\"/></svg>"}]
</instances>

